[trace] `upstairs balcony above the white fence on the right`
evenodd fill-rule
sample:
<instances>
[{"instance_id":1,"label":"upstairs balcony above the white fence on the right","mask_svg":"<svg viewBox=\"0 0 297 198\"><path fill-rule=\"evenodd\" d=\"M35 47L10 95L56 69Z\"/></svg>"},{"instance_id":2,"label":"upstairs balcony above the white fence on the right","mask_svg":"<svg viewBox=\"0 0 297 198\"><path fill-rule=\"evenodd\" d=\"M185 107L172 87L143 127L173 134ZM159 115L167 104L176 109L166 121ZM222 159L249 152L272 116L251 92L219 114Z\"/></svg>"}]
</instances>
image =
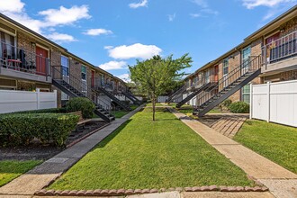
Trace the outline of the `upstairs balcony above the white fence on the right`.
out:
<instances>
[{"instance_id":1,"label":"upstairs balcony above the white fence on the right","mask_svg":"<svg viewBox=\"0 0 297 198\"><path fill-rule=\"evenodd\" d=\"M266 44L262 58L262 73L297 69L297 31Z\"/></svg>"}]
</instances>

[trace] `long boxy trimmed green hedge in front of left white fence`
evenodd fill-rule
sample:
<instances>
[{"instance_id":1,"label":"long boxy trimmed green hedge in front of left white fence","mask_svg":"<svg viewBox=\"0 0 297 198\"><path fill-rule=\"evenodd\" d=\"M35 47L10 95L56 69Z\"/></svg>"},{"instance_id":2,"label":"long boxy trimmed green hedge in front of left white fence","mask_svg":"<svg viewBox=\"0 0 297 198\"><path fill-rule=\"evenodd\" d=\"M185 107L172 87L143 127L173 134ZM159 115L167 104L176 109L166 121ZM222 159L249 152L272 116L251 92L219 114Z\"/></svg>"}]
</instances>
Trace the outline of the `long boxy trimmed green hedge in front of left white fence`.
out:
<instances>
[{"instance_id":1,"label":"long boxy trimmed green hedge in front of left white fence","mask_svg":"<svg viewBox=\"0 0 297 198\"><path fill-rule=\"evenodd\" d=\"M31 139L63 146L76 128L78 115L68 113L10 113L0 115L0 146L27 145Z\"/></svg>"}]
</instances>

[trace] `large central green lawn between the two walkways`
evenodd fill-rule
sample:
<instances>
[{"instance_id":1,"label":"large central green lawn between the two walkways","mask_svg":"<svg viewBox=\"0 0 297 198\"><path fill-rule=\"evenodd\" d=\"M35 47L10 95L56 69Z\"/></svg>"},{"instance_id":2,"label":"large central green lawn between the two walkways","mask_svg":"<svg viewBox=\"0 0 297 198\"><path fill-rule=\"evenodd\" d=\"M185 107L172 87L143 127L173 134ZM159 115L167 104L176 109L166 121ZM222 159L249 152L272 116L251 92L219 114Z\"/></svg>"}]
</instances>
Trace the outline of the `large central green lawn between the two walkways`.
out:
<instances>
[{"instance_id":1,"label":"large central green lawn between the two walkways","mask_svg":"<svg viewBox=\"0 0 297 198\"><path fill-rule=\"evenodd\" d=\"M253 185L247 175L165 108L136 113L49 189Z\"/></svg>"}]
</instances>

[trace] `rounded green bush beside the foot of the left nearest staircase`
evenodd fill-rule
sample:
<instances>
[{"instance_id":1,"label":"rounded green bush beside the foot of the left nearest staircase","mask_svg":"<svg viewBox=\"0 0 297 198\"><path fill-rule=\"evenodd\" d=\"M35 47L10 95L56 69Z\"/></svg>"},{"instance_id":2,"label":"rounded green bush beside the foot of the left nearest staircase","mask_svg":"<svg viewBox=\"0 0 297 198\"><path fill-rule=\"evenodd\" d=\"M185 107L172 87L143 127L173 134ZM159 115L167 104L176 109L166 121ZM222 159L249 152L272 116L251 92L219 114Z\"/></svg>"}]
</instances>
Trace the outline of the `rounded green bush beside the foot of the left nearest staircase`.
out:
<instances>
[{"instance_id":1,"label":"rounded green bush beside the foot of the left nearest staircase","mask_svg":"<svg viewBox=\"0 0 297 198\"><path fill-rule=\"evenodd\" d=\"M85 97L71 98L66 104L67 112L82 111L84 119L93 118L94 108L94 103Z\"/></svg>"}]
</instances>

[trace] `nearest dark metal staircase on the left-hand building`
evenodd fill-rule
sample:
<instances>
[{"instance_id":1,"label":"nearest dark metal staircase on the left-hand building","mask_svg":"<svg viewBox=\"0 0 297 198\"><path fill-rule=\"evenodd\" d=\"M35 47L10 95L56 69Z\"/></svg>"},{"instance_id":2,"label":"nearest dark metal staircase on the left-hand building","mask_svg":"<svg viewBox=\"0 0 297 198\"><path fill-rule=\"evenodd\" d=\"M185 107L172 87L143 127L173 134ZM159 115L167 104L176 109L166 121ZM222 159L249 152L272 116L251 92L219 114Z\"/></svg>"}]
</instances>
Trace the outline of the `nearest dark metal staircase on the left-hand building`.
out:
<instances>
[{"instance_id":1,"label":"nearest dark metal staircase on the left-hand building","mask_svg":"<svg viewBox=\"0 0 297 198\"><path fill-rule=\"evenodd\" d=\"M59 69L58 69L59 68ZM82 83L81 79L75 76L63 76L62 67L53 67L52 85L69 95L69 97L86 97L95 104L94 113L103 121L113 121L114 116L111 114L112 106L104 101L98 94L94 94L92 90ZM84 90L84 91L83 91Z\"/></svg>"}]
</instances>

